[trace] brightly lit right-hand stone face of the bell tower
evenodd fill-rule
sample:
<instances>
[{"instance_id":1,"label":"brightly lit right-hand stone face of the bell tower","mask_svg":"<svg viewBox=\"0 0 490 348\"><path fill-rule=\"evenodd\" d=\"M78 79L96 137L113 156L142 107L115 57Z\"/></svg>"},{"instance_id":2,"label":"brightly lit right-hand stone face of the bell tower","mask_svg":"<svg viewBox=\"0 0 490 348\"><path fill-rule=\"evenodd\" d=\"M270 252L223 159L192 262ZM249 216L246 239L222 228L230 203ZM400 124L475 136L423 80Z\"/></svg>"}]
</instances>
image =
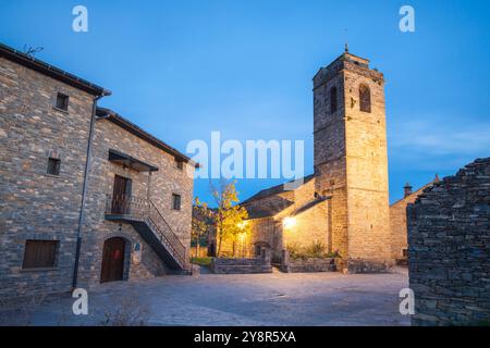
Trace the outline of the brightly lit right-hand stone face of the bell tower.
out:
<instances>
[{"instance_id":1,"label":"brightly lit right-hand stone face of the bell tower","mask_svg":"<svg viewBox=\"0 0 490 348\"><path fill-rule=\"evenodd\" d=\"M346 102L346 175L350 272L389 268L390 212L383 76L348 66L344 75ZM370 89L371 112L359 110L359 86ZM358 268L366 262L366 268ZM378 271L378 270L376 270Z\"/></svg>"}]
</instances>

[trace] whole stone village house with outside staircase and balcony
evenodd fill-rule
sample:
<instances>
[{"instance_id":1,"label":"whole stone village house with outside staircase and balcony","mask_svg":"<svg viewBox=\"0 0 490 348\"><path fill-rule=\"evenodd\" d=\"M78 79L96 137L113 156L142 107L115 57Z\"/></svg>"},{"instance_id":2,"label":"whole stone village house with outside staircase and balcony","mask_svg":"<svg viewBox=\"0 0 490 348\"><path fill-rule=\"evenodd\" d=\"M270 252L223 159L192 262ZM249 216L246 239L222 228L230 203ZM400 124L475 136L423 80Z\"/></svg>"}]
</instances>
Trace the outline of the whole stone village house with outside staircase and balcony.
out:
<instances>
[{"instance_id":1,"label":"whole stone village house with outside staircase and balcony","mask_svg":"<svg viewBox=\"0 0 490 348\"><path fill-rule=\"evenodd\" d=\"M196 164L109 95L0 45L0 298L187 270Z\"/></svg>"}]
</instances>

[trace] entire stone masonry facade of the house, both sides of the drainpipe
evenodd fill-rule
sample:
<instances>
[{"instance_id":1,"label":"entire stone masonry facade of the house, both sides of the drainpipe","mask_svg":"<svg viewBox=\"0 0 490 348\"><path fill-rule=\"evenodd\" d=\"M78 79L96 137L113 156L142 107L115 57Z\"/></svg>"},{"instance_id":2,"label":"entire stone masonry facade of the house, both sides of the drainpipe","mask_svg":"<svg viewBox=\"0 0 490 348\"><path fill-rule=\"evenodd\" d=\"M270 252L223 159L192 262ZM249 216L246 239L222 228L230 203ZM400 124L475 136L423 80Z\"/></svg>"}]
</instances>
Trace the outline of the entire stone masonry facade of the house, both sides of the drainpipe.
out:
<instances>
[{"instance_id":1,"label":"entire stone masonry facade of the house, both sides of the drainpipe","mask_svg":"<svg viewBox=\"0 0 490 348\"><path fill-rule=\"evenodd\" d=\"M163 260L131 224L105 219L107 195L115 174L131 178L132 195L151 199L188 250L194 164L176 150L137 136L145 133L136 126L137 132L128 132L98 119L85 181L90 122L97 119L93 112L101 88L4 46L0 53L0 298L70 291L78 232L79 286L100 282L102 246L111 237L125 240L124 279L166 274ZM59 92L69 96L66 111L56 108ZM111 162L109 149L158 171ZM59 175L47 174L50 158L60 161ZM177 158L185 162L182 169L175 165ZM78 228L84 182L85 217ZM173 194L181 197L180 210L172 209ZM57 241L54 265L24 269L27 240Z\"/></svg>"}]
</instances>

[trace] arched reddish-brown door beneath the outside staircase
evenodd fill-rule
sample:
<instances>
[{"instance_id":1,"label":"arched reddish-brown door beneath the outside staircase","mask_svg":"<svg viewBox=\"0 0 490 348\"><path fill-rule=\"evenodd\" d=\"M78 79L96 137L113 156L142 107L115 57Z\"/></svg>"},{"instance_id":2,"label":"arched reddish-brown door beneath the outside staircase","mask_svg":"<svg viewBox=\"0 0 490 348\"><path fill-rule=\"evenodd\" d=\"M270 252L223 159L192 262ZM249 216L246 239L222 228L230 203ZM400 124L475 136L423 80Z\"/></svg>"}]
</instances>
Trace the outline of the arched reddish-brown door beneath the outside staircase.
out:
<instances>
[{"instance_id":1,"label":"arched reddish-brown door beneath the outside staircase","mask_svg":"<svg viewBox=\"0 0 490 348\"><path fill-rule=\"evenodd\" d=\"M109 238L103 243L100 283L123 279L125 246L126 241L121 237Z\"/></svg>"}]
</instances>

